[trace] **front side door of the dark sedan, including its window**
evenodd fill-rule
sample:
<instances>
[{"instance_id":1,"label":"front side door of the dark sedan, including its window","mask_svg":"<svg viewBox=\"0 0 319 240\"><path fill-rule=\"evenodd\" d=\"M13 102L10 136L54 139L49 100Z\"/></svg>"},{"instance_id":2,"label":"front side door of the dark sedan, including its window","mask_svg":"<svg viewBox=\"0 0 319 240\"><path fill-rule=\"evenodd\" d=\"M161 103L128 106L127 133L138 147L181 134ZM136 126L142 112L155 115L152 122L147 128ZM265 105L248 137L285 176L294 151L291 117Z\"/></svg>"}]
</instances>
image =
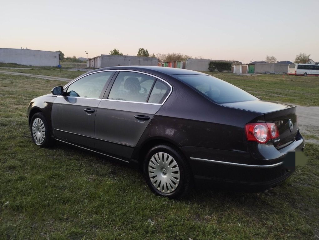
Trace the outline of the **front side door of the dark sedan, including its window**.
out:
<instances>
[{"instance_id":1,"label":"front side door of the dark sedan, including its window","mask_svg":"<svg viewBox=\"0 0 319 240\"><path fill-rule=\"evenodd\" d=\"M67 85L52 106L52 127L57 139L94 147L97 107L115 71L92 73Z\"/></svg>"}]
</instances>

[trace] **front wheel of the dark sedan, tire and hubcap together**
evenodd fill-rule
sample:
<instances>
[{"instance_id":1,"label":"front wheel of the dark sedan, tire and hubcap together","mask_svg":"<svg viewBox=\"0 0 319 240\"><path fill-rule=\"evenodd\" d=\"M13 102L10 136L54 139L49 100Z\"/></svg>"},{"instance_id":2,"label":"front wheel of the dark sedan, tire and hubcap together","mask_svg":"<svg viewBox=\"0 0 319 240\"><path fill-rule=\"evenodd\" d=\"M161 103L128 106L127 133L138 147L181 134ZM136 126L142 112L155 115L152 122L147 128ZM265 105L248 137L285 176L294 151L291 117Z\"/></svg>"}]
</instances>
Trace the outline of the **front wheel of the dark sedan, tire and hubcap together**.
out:
<instances>
[{"instance_id":1,"label":"front wheel of the dark sedan, tire and hubcap together","mask_svg":"<svg viewBox=\"0 0 319 240\"><path fill-rule=\"evenodd\" d=\"M42 148L52 145L53 139L47 120L42 113L35 113L30 121L30 133L32 141Z\"/></svg>"}]
</instances>

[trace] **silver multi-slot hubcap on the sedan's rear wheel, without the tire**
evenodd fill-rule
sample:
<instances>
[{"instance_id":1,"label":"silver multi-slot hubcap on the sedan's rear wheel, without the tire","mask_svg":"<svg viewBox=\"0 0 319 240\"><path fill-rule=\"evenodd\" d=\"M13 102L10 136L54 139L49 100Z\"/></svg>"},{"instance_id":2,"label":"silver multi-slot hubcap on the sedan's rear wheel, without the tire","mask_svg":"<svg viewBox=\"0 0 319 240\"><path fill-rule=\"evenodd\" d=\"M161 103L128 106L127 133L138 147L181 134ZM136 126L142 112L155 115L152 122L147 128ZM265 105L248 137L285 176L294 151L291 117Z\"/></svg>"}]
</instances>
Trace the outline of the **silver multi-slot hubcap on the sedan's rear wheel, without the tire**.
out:
<instances>
[{"instance_id":1,"label":"silver multi-slot hubcap on the sedan's rear wheel, without the tire","mask_svg":"<svg viewBox=\"0 0 319 240\"><path fill-rule=\"evenodd\" d=\"M173 192L180 181L180 171L174 158L167 153L156 153L148 163L152 184L163 193Z\"/></svg>"}]
</instances>

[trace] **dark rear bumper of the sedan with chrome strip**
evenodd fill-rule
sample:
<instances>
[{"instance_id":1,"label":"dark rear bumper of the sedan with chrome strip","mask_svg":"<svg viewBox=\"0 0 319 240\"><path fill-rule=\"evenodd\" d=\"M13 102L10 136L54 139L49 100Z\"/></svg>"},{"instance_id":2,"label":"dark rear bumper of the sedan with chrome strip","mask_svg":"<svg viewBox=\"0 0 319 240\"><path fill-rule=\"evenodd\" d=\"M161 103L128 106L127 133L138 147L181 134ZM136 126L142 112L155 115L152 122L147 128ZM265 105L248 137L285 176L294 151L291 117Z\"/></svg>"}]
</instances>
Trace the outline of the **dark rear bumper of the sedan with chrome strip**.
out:
<instances>
[{"instance_id":1,"label":"dark rear bumper of the sedan with chrome strip","mask_svg":"<svg viewBox=\"0 0 319 240\"><path fill-rule=\"evenodd\" d=\"M302 151L304 145L299 134L296 141L284 149L262 144L258 146L258 154L199 147L181 149L189 156L197 185L212 184L219 188L226 186L258 192L291 176L295 171L294 154L291 153Z\"/></svg>"}]
</instances>

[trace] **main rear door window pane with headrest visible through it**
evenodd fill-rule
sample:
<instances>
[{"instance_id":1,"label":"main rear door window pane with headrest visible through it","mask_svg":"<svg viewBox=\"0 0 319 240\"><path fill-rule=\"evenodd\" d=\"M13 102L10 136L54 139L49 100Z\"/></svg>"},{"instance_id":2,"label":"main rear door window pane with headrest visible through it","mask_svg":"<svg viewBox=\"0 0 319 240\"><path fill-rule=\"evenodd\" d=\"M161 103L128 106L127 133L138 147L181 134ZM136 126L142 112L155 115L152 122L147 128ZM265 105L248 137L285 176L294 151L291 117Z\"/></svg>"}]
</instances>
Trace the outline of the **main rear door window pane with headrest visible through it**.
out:
<instances>
[{"instance_id":1,"label":"main rear door window pane with headrest visible through it","mask_svg":"<svg viewBox=\"0 0 319 240\"><path fill-rule=\"evenodd\" d=\"M145 103L155 81L155 77L146 74L120 72L114 81L108 99Z\"/></svg>"}]
</instances>

